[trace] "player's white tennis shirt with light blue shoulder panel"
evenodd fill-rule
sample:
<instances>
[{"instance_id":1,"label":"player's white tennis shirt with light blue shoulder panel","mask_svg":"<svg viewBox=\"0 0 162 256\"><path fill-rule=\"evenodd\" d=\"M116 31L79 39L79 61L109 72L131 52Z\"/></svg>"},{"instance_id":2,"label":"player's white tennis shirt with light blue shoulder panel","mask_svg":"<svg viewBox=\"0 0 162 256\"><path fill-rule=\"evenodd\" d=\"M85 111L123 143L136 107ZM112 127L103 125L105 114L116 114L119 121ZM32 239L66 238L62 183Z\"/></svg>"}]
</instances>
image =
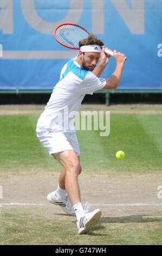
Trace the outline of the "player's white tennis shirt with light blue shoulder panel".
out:
<instances>
[{"instance_id":1,"label":"player's white tennis shirt with light blue shoulder panel","mask_svg":"<svg viewBox=\"0 0 162 256\"><path fill-rule=\"evenodd\" d=\"M79 111L81 102L86 94L105 87L106 80L95 76L92 72L81 69L75 61L77 56L63 66L60 81L37 121L41 129L75 131L75 112Z\"/></svg>"}]
</instances>

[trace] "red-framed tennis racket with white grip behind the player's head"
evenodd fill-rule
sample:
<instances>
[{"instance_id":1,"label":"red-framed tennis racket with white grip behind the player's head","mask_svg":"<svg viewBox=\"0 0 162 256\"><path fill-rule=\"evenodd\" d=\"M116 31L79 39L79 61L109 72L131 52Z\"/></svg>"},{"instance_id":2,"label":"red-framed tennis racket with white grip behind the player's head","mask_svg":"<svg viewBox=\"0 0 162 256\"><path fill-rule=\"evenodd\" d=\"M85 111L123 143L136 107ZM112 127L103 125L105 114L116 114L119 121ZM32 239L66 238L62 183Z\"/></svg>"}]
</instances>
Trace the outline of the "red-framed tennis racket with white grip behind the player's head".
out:
<instances>
[{"instance_id":1,"label":"red-framed tennis racket with white grip behind the player's head","mask_svg":"<svg viewBox=\"0 0 162 256\"><path fill-rule=\"evenodd\" d=\"M54 31L55 39L59 44L74 50L80 50L79 41L88 38L89 34L90 32L86 28L74 23L62 23ZM110 50L105 49L105 53L114 56Z\"/></svg>"}]
</instances>

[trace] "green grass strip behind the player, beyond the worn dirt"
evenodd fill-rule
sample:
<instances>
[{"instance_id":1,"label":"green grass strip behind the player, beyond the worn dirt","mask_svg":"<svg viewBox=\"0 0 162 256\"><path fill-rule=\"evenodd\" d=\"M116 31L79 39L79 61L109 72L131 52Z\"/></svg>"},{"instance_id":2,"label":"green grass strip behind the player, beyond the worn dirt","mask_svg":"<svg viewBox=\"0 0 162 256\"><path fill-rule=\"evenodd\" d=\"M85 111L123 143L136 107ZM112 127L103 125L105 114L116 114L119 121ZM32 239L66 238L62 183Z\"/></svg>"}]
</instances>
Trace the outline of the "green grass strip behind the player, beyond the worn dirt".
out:
<instances>
[{"instance_id":1,"label":"green grass strip behind the player, beyond the worn dirt","mask_svg":"<svg viewBox=\"0 0 162 256\"><path fill-rule=\"evenodd\" d=\"M62 167L49 157L35 133L39 115L1 115L1 175L60 172ZM161 114L112 114L110 135L100 131L76 131L81 164L86 173L148 173L161 171ZM125 160L115 153L125 152Z\"/></svg>"}]
</instances>

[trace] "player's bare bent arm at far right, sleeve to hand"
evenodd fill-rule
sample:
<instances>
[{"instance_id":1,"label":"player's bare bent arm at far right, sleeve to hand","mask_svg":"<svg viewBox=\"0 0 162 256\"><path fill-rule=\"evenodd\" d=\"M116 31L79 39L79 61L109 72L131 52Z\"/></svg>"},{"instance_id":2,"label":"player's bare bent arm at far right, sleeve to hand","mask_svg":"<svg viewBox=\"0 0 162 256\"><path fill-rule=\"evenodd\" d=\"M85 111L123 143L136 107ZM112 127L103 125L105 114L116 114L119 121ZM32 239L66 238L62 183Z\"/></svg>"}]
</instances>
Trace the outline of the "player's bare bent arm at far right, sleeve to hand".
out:
<instances>
[{"instance_id":1,"label":"player's bare bent arm at far right, sleeve to hand","mask_svg":"<svg viewBox=\"0 0 162 256\"><path fill-rule=\"evenodd\" d=\"M114 50L114 59L116 63L115 71L113 72L111 77L106 78L106 85L102 88L102 90L116 89L119 86L122 76L122 70L125 64L125 54Z\"/></svg>"}]
</instances>

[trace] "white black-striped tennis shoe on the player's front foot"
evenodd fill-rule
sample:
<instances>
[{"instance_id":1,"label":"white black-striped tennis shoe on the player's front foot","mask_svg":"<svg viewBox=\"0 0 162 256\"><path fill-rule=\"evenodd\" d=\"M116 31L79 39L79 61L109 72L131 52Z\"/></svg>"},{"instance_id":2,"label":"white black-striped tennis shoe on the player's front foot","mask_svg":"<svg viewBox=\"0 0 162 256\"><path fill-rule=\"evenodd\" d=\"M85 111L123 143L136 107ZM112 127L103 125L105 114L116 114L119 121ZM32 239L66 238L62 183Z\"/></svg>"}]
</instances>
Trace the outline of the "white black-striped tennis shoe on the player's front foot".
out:
<instances>
[{"instance_id":1,"label":"white black-striped tennis shoe on the player's front foot","mask_svg":"<svg viewBox=\"0 0 162 256\"><path fill-rule=\"evenodd\" d=\"M87 234L92 225L99 221L101 213L100 209L96 209L92 212L81 215L79 220L76 221L76 225L79 230L78 234Z\"/></svg>"}]
</instances>

